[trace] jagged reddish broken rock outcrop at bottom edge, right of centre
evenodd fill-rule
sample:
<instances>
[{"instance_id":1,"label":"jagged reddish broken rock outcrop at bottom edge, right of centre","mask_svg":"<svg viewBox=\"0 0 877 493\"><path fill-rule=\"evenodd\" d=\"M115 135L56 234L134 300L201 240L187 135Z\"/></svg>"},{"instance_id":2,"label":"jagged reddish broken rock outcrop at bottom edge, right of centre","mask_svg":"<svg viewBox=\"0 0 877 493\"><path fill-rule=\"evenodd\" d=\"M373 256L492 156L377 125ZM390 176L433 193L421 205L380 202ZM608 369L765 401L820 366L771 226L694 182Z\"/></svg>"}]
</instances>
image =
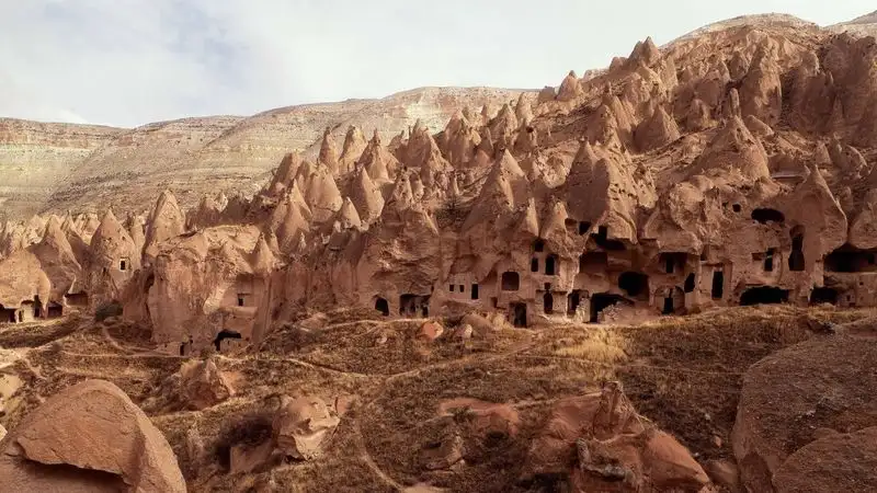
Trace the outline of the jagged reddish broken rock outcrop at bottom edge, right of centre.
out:
<instances>
[{"instance_id":1,"label":"jagged reddish broken rock outcrop at bottom edge, right of centre","mask_svg":"<svg viewBox=\"0 0 877 493\"><path fill-rule=\"evenodd\" d=\"M533 440L524 479L569 478L572 491L701 492L709 478L673 436L637 414L610 382L555 404Z\"/></svg>"}]
</instances>

